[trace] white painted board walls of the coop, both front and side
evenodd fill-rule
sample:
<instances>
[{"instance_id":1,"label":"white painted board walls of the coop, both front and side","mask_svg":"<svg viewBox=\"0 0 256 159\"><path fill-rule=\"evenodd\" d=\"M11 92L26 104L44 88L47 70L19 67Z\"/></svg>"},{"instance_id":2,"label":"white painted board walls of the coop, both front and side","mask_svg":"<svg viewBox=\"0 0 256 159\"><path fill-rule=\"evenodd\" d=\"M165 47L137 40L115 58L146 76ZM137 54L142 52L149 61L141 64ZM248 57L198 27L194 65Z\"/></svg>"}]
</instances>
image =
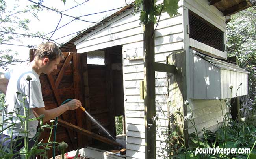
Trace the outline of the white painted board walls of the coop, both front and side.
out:
<instances>
[{"instance_id":1,"label":"white painted board walls of the coop, both front and side","mask_svg":"<svg viewBox=\"0 0 256 159\"><path fill-rule=\"evenodd\" d=\"M207 2L207 0L180 0L180 8L178 10L180 15L170 18L167 13L162 14L155 33L156 62L166 63L166 57L169 54L175 51L185 50L186 57L188 57L186 61L190 63L189 35L186 32L188 11L186 9L191 9L225 32L226 24L222 13L215 7L206 4ZM184 7L182 7L183 5ZM126 159L145 159L144 100L141 100L139 96L139 83L144 79L143 59L139 58L143 57L143 29L139 23L139 13L134 15L132 8L75 42L78 53L122 45L124 107L127 131ZM137 56L136 60L126 58L134 54ZM189 70L189 65L187 65L187 70ZM189 80L190 74L191 72L187 71L188 97L191 97L190 92L192 91ZM169 100L166 99L168 84L163 85L163 83L167 81L166 77L166 73L156 72L156 113L159 114L160 123L163 128L167 126L163 114L167 113L167 100ZM216 110L216 108L219 107L218 104L214 102L193 100L191 101L191 105L195 108L196 114L197 111L200 114L200 108L205 107L201 111L204 112L204 114L201 113L201 116L202 119L206 119L204 117L210 114L210 112L206 111L207 109L213 110L215 108ZM179 103L179 105L182 105L182 103ZM197 108L197 105L200 108ZM161 110L163 110L164 113L160 113ZM212 118L206 119L204 123L198 123L199 127L209 123L212 128L216 126L214 120L219 117L219 113L220 112L217 111ZM200 119L200 117L198 119ZM159 137L157 135L156 151L160 151L158 147L164 146L160 145L161 140L163 140L162 136ZM157 158L164 157L160 155L160 157Z\"/></svg>"}]
</instances>

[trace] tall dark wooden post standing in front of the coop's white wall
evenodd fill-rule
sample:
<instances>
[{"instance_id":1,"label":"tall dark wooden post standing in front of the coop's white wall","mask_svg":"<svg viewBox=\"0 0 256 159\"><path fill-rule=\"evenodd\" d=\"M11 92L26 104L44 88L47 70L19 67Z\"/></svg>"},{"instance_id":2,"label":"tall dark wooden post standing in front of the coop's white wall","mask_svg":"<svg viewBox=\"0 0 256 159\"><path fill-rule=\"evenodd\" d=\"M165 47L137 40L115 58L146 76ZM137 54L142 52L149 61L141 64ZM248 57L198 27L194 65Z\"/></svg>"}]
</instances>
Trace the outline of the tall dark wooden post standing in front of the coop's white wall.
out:
<instances>
[{"instance_id":1,"label":"tall dark wooden post standing in front of the coop's white wall","mask_svg":"<svg viewBox=\"0 0 256 159\"><path fill-rule=\"evenodd\" d=\"M153 10L154 0L143 0L143 10L149 13ZM154 23L143 24L144 47L144 110L145 110L145 155L146 159L156 158L156 123L152 118L156 116L156 84L155 84L155 41Z\"/></svg>"}]
</instances>

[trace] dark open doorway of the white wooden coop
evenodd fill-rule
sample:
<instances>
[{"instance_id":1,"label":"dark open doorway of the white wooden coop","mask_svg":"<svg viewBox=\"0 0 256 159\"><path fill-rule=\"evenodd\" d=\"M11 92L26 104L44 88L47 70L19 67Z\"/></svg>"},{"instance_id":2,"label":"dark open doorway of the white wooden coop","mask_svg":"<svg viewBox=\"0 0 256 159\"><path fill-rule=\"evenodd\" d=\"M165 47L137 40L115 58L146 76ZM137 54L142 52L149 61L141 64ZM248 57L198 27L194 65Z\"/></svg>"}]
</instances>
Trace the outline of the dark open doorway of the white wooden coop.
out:
<instances>
[{"instance_id":1,"label":"dark open doorway of the white wooden coop","mask_svg":"<svg viewBox=\"0 0 256 159\"><path fill-rule=\"evenodd\" d=\"M111 136L117 137L117 142L124 145L126 137L122 46L87 52L87 67L90 114L109 131ZM95 123L91 123L91 131L108 137ZM111 149L111 146L95 139L91 139L88 146L101 150Z\"/></svg>"}]
</instances>

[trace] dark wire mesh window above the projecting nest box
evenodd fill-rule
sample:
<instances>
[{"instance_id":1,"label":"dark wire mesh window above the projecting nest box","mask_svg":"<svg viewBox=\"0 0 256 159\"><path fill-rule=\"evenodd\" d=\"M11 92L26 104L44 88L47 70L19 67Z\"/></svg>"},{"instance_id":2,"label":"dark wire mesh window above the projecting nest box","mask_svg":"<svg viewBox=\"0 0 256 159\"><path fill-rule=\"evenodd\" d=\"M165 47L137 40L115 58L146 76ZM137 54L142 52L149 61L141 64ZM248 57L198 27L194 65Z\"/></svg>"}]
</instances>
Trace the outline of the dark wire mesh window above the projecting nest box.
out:
<instances>
[{"instance_id":1,"label":"dark wire mesh window above the projecting nest box","mask_svg":"<svg viewBox=\"0 0 256 159\"><path fill-rule=\"evenodd\" d=\"M189 10L189 37L224 51L223 31Z\"/></svg>"}]
</instances>

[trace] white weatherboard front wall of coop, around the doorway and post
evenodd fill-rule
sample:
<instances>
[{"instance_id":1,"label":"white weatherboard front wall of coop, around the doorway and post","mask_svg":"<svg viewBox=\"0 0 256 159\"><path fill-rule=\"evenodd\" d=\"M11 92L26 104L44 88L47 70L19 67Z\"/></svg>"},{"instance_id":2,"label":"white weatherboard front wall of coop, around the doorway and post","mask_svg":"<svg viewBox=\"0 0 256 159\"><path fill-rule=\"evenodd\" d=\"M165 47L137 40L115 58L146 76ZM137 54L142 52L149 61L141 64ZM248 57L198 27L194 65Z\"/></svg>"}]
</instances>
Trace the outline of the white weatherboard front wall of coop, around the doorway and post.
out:
<instances>
[{"instance_id":1,"label":"white weatherboard front wall of coop, around the doorway and post","mask_svg":"<svg viewBox=\"0 0 256 159\"><path fill-rule=\"evenodd\" d=\"M181 5L181 2L180 2ZM180 7L178 10L182 12ZM156 26L155 26L156 27ZM182 15L169 17L163 13L155 32L155 61L166 63L166 57L173 51L183 49ZM77 52L88 52L122 45L124 108L126 116L126 156L127 158L145 158L145 121L144 100L140 99L140 81L144 79L143 65L143 28L139 24L139 13L134 15L133 8L113 18L75 42ZM137 59L129 58L136 53ZM167 73L156 72L156 114L161 130L167 128ZM156 147L164 146L164 136L156 137ZM163 154L159 154L160 156Z\"/></svg>"}]
</instances>

